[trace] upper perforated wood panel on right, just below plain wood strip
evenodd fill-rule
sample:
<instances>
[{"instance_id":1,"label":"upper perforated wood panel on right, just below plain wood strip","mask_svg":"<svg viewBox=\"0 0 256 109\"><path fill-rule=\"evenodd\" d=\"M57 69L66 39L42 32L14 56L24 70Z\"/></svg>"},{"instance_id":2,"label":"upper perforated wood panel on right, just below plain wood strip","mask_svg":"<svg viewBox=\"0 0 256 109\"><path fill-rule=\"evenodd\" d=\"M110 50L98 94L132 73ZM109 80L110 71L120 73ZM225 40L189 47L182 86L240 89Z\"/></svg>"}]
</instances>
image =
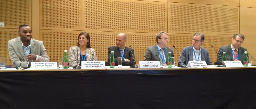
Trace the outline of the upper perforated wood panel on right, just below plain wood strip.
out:
<instances>
[{"instance_id":1,"label":"upper perforated wood panel on right, just below plain wood strip","mask_svg":"<svg viewBox=\"0 0 256 109\"><path fill-rule=\"evenodd\" d=\"M168 32L234 34L239 32L239 7L168 3Z\"/></svg>"}]
</instances>

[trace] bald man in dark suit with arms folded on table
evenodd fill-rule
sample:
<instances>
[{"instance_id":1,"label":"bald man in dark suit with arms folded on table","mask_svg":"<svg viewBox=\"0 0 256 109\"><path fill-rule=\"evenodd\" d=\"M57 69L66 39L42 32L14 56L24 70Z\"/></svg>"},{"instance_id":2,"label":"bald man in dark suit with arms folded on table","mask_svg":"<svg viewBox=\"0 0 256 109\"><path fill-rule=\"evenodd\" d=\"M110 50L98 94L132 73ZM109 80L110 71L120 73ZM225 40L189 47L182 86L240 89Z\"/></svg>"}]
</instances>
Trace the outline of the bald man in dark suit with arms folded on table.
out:
<instances>
[{"instance_id":1,"label":"bald man in dark suit with arms folded on table","mask_svg":"<svg viewBox=\"0 0 256 109\"><path fill-rule=\"evenodd\" d=\"M119 33L116 36L116 46L108 48L108 62L110 60L111 51L114 51L115 57L115 66L117 66L117 57L122 57L122 65L123 66L132 66L135 64L135 56L133 49L125 46L126 43L126 35L124 33ZM134 58L133 58L133 56Z\"/></svg>"}]
</instances>

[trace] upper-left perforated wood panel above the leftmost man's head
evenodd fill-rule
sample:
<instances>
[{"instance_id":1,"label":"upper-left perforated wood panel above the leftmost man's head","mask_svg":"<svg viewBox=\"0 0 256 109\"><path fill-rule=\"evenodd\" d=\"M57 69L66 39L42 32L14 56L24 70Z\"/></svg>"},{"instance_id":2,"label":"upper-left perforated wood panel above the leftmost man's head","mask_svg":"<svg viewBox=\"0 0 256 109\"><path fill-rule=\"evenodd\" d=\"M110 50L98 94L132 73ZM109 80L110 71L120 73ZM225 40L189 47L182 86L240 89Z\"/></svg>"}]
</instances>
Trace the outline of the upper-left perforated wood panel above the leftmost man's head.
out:
<instances>
[{"instance_id":1,"label":"upper-left perforated wood panel above the leftmost man's head","mask_svg":"<svg viewBox=\"0 0 256 109\"><path fill-rule=\"evenodd\" d=\"M31 0L1 0L0 22L4 27L19 28L21 24L31 25Z\"/></svg>"}]
</instances>

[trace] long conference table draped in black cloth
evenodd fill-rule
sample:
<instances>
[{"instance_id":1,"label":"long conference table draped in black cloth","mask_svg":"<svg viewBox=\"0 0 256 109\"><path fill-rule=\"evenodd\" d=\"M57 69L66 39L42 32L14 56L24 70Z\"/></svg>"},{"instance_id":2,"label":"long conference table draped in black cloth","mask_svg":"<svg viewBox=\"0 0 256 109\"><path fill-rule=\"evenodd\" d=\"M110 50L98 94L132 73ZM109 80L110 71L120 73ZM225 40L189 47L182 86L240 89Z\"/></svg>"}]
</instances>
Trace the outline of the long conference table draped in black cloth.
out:
<instances>
[{"instance_id":1,"label":"long conference table draped in black cloth","mask_svg":"<svg viewBox=\"0 0 256 109\"><path fill-rule=\"evenodd\" d=\"M255 109L256 67L0 70L1 109Z\"/></svg>"}]
</instances>

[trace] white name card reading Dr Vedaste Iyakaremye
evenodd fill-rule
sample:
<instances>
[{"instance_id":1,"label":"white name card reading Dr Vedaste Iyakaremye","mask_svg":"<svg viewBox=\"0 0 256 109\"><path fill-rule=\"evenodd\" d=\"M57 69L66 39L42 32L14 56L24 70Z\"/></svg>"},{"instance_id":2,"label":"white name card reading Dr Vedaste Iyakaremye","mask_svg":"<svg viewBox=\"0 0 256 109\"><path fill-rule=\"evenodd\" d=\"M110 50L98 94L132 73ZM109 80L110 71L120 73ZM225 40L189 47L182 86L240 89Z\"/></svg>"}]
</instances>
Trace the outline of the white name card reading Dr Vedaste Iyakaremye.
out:
<instances>
[{"instance_id":1,"label":"white name card reading Dr Vedaste Iyakaremye","mask_svg":"<svg viewBox=\"0 0 256 109\"><path fill-rule=\"evenodd\" d=\"M57 69L57 62L31 62L30 69Z\"/></svg>"}]
</instances>

